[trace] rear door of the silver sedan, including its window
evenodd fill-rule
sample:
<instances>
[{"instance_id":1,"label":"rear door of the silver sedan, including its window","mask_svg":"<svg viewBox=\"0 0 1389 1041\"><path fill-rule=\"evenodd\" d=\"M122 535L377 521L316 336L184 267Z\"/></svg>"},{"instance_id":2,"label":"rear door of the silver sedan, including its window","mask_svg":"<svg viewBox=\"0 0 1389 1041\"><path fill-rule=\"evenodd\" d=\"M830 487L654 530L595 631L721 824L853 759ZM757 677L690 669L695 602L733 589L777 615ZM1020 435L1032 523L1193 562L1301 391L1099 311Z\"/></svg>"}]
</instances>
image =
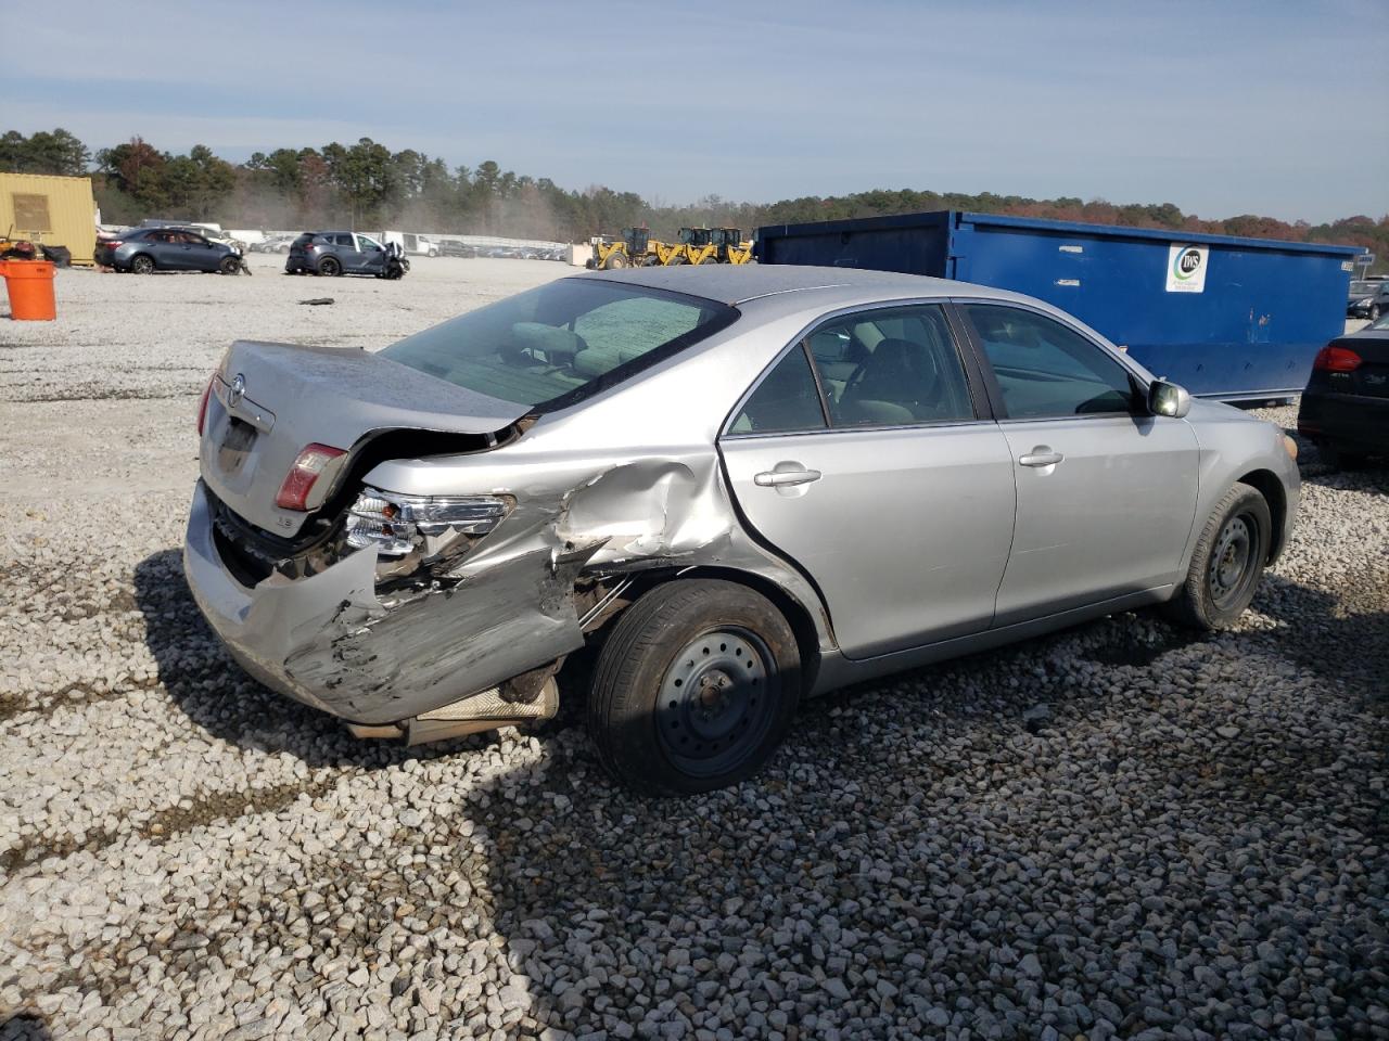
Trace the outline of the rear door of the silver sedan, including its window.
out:
<instances>
[{"instance_id":1,"label":"rear door of the silver sedan, including its window","mask_svg":"<svg viewBox=\"0 0 1389 1041\"><path fill-rule=\"evenodd\" d=\"M790 347L720 439L743 515L820 587L850 658L992 622L1013 459L979 390L943 305L857 311Z\"/></svg>"}]
</instances>

